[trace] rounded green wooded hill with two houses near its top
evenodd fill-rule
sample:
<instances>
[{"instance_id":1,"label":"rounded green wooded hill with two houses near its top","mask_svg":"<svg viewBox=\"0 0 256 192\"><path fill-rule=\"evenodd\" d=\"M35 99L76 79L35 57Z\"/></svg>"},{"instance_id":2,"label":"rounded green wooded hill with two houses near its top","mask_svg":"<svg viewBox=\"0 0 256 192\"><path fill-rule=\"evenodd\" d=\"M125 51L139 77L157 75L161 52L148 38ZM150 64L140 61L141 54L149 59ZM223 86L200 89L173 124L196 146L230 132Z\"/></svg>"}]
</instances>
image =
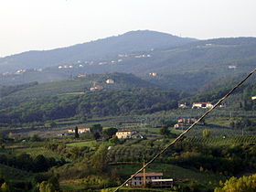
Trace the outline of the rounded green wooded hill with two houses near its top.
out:
<instances>
[{"instance_id":1,"label":"rounded green wooded hill with two houses near its top","mask_svg":"<svg viewBox=\"0 0 256 192\"><path fill-rule=\"evenodd\" d=\"M95 86L101 90L91 91ZM0 124L159 112L176 109L180 97L177 91L163 91L123 73L4 87L2 91L5 92L0 98Z\"/></svg>"}]
</instances>

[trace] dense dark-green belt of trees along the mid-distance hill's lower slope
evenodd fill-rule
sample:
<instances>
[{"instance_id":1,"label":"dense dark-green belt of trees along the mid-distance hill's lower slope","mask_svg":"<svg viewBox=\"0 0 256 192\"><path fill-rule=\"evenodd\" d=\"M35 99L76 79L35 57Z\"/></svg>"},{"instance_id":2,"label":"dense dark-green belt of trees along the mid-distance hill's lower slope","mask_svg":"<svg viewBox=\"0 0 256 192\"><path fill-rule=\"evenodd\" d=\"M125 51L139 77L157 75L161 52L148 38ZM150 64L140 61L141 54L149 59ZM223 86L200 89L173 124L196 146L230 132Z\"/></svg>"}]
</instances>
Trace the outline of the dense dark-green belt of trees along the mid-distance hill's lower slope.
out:
<instances>
[{"instance_id":1,"label":"dense dark-green belt of trees along the mid-distance hill's lower slope","mask_svg":"<svg viewBox=\"0 0 256 192\"><path fill-rule=\"evenodd\" d=\"M0 123L45 122L75 115L106 116L151 113L176 109L176 100L176 92L155 89L57 95L21 102L15 106L12 106L14 101L9 102L6 99L0 103Z\"/></svg>"}]
</instances>

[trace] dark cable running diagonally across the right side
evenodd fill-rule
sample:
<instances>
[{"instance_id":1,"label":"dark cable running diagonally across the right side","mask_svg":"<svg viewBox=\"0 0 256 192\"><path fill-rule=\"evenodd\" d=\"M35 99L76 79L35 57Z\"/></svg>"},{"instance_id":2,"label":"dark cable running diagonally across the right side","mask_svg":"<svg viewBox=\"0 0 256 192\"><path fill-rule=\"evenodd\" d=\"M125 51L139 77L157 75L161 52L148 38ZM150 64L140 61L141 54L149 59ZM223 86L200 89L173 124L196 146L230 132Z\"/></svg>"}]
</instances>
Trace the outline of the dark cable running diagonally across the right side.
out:
<instances>
[{"instance_id":1,"label":"dark cable running diagonally across the right side","mask_svg":"<svg viewBox=\"0 0 256 192\"><path fill-rule=\"evenodd\" d=\"M199 119L197 119L197 121L196 121L195 123L191 124L191 125L187 128L187 130L186 130L185 132L180 133L180 134L176 137L176 139L175 139L173 142L171 142L170 144L168 144L167 146L165 146L164 149L162 149L157 155L155 155L155 156L154 156L149 162L147 162L142 168L140 168L139 170L137 170L132 176L130 176L130 178L128 178L127 180L125 180L121 186L116 187L116 189L114 190L114 192L118 191L121 187L123 187L126 183L128 183L128 181L130 181L134 176L136 176L138 173L140 173L141 171L143 171L145 167L147 167L148 165L152 164L152 163L155 161L155 159L156 159L158 156L160 156L160 155L162 155L163 153L165 153L165 151L166 151L170 146L176 144L177 141L181 140L182 137L183 137L187 132L189 132L195 125L197 125L197 123L199 123L202 119L204 119L204 118L208 115L209 112L213 111L222 101L226 100L226 99L229 97L229 95L230 95L233 91L237 90L237 89L240 87L241 84L243 84L246 80L248 80L248 79L251 77L251 75L252 75L255 71L256 71L256 68L253 69L243 80L240 81L240 83L238 83L238 84L237 84L232 90L230 90L224 97L222 97L211 109L208 110L208 112L205 112Z\"/></svg>"}]
</instances>

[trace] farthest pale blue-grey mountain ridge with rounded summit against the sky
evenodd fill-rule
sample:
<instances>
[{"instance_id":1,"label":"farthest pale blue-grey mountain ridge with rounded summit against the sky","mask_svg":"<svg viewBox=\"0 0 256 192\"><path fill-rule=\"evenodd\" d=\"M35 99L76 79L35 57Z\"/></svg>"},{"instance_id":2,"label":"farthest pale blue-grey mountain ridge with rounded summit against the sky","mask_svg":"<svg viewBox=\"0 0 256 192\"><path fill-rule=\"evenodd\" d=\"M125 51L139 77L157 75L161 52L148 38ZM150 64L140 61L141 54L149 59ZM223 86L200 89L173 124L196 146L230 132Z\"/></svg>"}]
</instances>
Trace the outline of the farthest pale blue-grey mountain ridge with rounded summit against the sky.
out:
<instances>
[{"instance_id":1,"label":"farthest pale blue-grey mountain ridge with rounded summit against the sky","mask_svg":"<svg viewBox=\"0 0 256 192\"><path fill-rule=\"evenodd\" d=\"M176 37L150 30L131 31L68 48L27 51L0 59L0 72L16 69L38 69L64 65L78 60L104 59L121 53L147 51L152 48L174 48L197 39Z\"/></svg>"}]
</instances>

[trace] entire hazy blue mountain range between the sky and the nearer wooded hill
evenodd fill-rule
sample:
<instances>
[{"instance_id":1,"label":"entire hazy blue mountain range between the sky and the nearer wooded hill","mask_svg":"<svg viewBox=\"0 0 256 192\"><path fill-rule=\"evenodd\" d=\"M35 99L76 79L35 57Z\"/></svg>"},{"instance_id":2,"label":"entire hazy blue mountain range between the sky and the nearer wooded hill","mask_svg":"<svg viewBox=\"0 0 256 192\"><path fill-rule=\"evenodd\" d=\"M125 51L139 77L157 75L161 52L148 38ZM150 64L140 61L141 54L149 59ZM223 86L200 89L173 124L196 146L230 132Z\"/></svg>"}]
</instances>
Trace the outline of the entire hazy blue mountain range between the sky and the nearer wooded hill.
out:
<instances>
[{"instance_id":1,"label":"entire hazy blue mountain range between the sky and the nearer wooded hill","mask_svg":"<svg viewBox=\"0 0 256 192\"><path fill-rule=\"evenodd\" d=\"M82 51L81 47L89 47L89 45L94 49L88 48ZM48 54L57 52L59 52L59 58L63 57L63 60L53 62L54 59L58 60L58 57ZM82 59L82 57L86 58L85 52L91 53L91 59ZM21 54L20 57L28 53ZM205 89L204 86L211 87L211 82L216 84L218 80L233 79L254 69L256 37L195 40L152 31L134 31L119 37L109 37L71 48L37 53L40 55L38 58L51 60L51 62L43 63L41 59L31 63L35 68L38 63L42 63L37 69L20 70L2 76L0 74L0 85L67 80L91 73L124 72L133 73L163 89L198 91L200 88ZM43 57L44 54L48 57ZM95 59L92 59L93 54ZM105 57L96 55L105 55ZM5 61L12 63L10 67L19 66L14 64L17 61L23 63L21 59L16 58L17 55L12 57L5 58ZM28 58L31 59L31 57ZM0 63L2 63L0 70L8 66L1 61ZM47 66L46 63L50 67L44 68ZM150 73L156 75L150 75Z\"/></svg>"}]
</instances>

